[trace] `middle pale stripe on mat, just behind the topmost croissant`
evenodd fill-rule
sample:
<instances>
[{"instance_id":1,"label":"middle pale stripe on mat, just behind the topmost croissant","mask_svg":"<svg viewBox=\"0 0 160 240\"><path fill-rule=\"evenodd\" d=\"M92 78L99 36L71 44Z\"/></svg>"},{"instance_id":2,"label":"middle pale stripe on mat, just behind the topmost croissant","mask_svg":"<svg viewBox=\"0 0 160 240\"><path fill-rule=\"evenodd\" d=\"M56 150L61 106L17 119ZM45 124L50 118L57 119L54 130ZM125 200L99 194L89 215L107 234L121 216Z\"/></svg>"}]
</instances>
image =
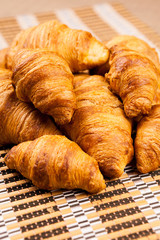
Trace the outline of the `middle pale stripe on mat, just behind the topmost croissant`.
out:
<instances>
[{"instance_id":1,"label":"middle pale stripe on mat, just behind the topmost croissant","mask_svg":"<svg viewBox=\"0 0 160 240\"><path fill-rule=\"evenodd\" d=\"M70 8L65 8L63 10L56 10L55 14L57 15L58 19L68 25L70 28L75 29L82 29L84 31L91 32L94 36L94 32L88 28L83 21L77 16L77 14ZM97 36L95 36L98 38Z\"/></svg>"}]
</instances>

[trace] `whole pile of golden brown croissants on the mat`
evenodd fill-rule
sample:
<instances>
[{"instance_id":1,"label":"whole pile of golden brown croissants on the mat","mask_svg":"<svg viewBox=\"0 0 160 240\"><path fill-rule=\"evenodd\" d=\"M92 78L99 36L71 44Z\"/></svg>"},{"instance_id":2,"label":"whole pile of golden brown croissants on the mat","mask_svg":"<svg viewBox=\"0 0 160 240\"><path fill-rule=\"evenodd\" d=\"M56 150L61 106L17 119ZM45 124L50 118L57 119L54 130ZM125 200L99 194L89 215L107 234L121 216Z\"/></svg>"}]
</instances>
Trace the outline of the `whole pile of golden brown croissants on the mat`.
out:
<instances>
[{"instance_id":1,"label":"whole pile of golden brown croissants on the mat","mask_svg":"<svg viewBox=\"0 0 160 240\"><path fill-rule=\"evenodd\" d=\"M160 64L143 40L53 20L21 31L0 67L5 162L37 187L97 193L134 154L139 172L159 167Z\"/></svg>"}]
</instances>

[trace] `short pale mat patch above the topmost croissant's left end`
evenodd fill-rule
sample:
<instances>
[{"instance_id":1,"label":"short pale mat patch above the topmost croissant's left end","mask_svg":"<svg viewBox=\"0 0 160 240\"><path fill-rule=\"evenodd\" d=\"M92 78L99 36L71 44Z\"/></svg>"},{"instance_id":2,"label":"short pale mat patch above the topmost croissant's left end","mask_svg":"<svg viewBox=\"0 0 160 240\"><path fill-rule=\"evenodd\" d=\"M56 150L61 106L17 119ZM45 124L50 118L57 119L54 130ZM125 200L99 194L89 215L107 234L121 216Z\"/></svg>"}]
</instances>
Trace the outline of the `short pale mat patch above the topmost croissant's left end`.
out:
<instances>
[{"instance_id":1,"label":"short pale mat patch above the topmost croissant's left end","mask_svg":"<svg viewBox=\"0 0 160 240\"><path fill-rule=\"evenodd\" d=\"M18 15L16 17L17 22L19 23L21 29L27 29L29 27L33 27L39 24L36 17L32 14L27 15Z\"/></svg>"}]
</instances>

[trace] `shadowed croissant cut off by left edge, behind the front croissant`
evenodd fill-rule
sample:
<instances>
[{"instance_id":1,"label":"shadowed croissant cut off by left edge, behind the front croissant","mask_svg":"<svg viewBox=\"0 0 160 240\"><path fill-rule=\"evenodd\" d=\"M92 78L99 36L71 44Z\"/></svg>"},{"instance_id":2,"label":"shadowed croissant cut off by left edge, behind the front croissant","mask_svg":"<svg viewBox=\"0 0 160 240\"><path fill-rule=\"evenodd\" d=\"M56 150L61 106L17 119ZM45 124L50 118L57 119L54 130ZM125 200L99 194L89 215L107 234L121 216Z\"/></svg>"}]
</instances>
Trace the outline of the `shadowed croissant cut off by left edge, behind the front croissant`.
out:
<instances>
[{"instance_id":1,"label":"shadowed croissant cut off by left edge, behind the front croissant","mask_svg":"<svg viewBox=\"0 0 160 240\"><path fill-rule=\"evenodd\" d=\"M53 121L17 99L12 72L0 69L0 145L17 144L45 134L60 134Z\"/></svg>"}]
</instances>

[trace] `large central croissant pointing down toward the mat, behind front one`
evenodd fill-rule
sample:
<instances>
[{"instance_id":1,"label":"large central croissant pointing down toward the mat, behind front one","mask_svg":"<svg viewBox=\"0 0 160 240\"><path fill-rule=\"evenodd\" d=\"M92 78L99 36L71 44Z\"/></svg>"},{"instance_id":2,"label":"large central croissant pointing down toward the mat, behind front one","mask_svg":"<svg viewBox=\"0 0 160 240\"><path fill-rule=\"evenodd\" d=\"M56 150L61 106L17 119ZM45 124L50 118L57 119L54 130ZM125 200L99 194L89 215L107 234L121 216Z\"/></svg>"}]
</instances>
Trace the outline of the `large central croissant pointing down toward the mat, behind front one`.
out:
<instances>
[{"instance_id":1,"label":"large central croissant pointing down toward the mat, behind front one","mask_svg":"<svg viewBox=\"0 0 160 240\"><path fill-rule=\"evenodd\" d=\"M132 160L132 122L102 76L76 75L77 108L65 134L95 158L105 177L121 176Z\"/></svg>"}]
</instances>

